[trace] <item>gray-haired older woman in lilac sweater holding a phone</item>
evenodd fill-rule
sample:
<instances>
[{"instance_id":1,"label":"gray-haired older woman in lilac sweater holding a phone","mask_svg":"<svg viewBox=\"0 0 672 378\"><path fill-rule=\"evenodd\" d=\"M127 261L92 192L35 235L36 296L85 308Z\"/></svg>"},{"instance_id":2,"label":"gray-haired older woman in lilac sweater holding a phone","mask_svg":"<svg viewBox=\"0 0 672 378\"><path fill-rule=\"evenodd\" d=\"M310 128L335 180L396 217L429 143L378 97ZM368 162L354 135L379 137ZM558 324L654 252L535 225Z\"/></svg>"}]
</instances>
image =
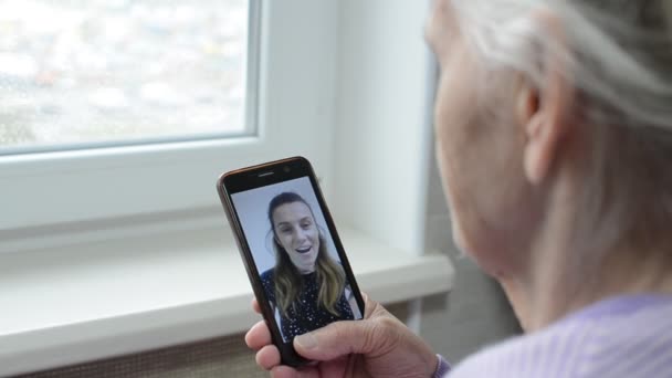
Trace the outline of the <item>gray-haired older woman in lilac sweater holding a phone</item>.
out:
<instances>
[{"instance_id":1,"label":"gray-haired older woman in lilac sweater holding a phone","mask_svg":"<svg viewBox=\"0 0 672 378\"><path fill-rule=\"evenodd\" d=\"M438 0L437 150L456 244L526 335L449 368L380 305L274 377L672 377L672 2ZM447 327L450 325L447 324Z\"/></svg>"}]
</instances>

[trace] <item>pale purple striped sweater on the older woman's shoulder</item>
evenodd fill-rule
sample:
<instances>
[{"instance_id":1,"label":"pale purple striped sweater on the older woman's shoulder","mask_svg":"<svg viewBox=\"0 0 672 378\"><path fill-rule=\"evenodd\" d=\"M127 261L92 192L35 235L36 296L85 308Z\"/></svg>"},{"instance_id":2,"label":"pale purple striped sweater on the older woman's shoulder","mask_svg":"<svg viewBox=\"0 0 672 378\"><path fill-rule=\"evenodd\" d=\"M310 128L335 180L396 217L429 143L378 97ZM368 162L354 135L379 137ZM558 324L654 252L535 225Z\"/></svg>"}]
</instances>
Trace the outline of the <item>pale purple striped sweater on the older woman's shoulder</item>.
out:
<instances>
[{"instance_id":1,"label":"pale purple striped sweater on the older woman's shoulder","mask_svg":"<svg viewBox=\"0 0 672 378\"><path fill-rule=\"evenodd\" d=\"M672 295L601 301L448 370L445 378L672 377Z\"/></svg>"}]
</instances>

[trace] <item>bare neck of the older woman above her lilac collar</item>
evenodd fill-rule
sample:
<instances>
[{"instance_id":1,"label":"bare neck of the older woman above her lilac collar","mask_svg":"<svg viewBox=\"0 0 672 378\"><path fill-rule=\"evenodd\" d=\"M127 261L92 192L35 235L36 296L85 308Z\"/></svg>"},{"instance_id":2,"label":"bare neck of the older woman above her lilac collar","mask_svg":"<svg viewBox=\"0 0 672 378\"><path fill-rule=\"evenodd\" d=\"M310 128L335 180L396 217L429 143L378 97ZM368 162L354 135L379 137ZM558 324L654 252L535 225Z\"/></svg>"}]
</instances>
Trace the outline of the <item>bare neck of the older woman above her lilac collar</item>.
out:
<instances>
[{"instance_id":1,"label":"bare neck of the older woman above her lilac collar","mask_svg":"<svg viewBox=\"0 0 672 378\"><path fill-rule=\"evenodd\" d=\"M579 206L557 193L554 211L531 243L526 266L500 281L527 332L610 296L672 293L672 240L664 232L649 242L620 241L586 246L576 237ZM653 241L653 242L651 242Z\"/></svg>"}]
</instances>

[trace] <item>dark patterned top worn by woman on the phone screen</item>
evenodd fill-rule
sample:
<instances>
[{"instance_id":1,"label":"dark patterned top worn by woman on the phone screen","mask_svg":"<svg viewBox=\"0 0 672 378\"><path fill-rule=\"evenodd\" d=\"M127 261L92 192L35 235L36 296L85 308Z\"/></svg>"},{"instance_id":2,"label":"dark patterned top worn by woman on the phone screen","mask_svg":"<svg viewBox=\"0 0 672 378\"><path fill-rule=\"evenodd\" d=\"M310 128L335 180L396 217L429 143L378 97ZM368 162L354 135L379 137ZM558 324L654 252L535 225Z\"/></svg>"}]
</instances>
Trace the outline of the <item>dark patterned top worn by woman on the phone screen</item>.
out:
<instances>
[{"instance_id":1,"label":"dark patterned top worn by woman on the phone screen","mask_svg":"<svg viewBox=\"0 0 672 378\"><path fill-rule=\"evenodd\" d=\"M273 269L265 271L261 275L261 282L264 286L266 295L269 296L269 301L271 301L273 306L275 306L276 302L273 274ZM302 275L303 290L298 294L296 306L294 306L296 309L290 306L290 308L287 308L287 317L281 316L280 328L285 343L291 342L295 336L324 327L329 323L336 321L351 321L355 318L348 300L345 296L345 292L340 295L340 298L338 298L338 302L336 303L336 311L340 313L340 316L335 316L325 308L318 306L317 293L319 287L316 275L316 273Z\"/></svg>"}]
</instances>

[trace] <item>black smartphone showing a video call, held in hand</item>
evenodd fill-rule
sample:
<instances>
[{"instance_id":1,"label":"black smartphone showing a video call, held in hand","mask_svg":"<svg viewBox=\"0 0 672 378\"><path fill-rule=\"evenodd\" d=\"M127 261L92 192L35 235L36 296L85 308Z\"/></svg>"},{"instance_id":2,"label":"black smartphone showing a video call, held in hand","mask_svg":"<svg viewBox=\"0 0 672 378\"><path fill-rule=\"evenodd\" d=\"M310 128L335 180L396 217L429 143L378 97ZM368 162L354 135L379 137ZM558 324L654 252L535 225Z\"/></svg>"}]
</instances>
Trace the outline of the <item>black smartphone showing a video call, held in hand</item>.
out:
<instances>
[{"instance_id":1,"label":"black smartphone showing a video call, held in hand","mask_svg":"<svg viewBox=\"0 0 672 378\"><path fill-rule=\"evenodd\" d=\"M361 319L364 300L313 167L303 157L223 174L217 189L282 361L294 337Z\"/></svg>"}]
</instances>

